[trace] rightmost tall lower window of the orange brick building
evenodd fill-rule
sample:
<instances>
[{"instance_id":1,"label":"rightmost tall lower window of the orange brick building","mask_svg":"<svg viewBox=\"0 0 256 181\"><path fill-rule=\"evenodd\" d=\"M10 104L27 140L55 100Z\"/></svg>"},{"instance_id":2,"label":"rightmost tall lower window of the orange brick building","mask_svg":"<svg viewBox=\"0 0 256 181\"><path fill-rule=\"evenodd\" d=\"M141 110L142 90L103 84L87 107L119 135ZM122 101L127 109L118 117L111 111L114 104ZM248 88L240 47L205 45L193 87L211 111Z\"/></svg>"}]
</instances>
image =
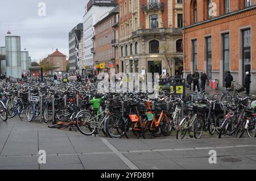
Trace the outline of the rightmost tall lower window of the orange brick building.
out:
<instances>
[{"instance_id":1,"label":"rightmost tall lower window of the orange brick building","mask_svg":"<svg viewBox=\"0 0 256 181\"><path fill-rule=\"evenodd\" d=\"M251 30L242 31L243 76L251 71Z\"/></svg>"}]
</instances>

